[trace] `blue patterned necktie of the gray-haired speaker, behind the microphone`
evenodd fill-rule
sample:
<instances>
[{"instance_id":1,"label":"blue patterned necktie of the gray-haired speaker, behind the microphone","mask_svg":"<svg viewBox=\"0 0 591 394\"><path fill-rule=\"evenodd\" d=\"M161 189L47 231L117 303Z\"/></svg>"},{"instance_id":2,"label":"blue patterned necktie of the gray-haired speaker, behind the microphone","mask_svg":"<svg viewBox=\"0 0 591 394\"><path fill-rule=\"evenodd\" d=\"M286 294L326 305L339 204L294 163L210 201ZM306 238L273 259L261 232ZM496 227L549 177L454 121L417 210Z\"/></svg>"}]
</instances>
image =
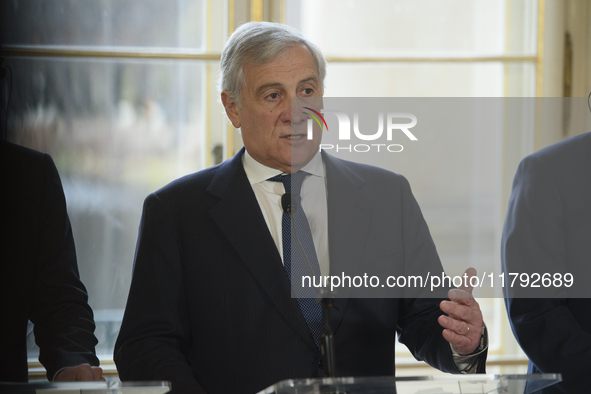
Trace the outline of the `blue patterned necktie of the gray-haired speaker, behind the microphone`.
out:
<instances>
[{"instance_id":1,"label":"blue patterned necktie of the gray-haired speaker, behind the microphone","mask_svg":"<svg viewBox=\"0 0 591 394\"><path fill-rule=\"evenodd\" d=\"M308 261L314 271L315 275L320 275L320 266L318 265L318 257L316 256L316 249L314 248L314 241L312 240L312 232L310 225L306 218L306 213L302 208L302 183L304 178L308 175L307 172L298 171L290 175L277 175L269 178L273 182L282 182L285 187L285 192L292 195L295 206L294 225L298 235L298 239L302 244L304 252L308 257ZM312 273L302 256L296 240L292 237L291 218L287 212L283 212L281 220L282 237L283 237L283 266L295 295L298 299L298 304L302 310L302 314L308 323L308 328L312 333L316 346L320 343L320 335L322 334L322 306L316 302L315 288L302 288L302 276L311 277ZM306 282L307 284L308 282Z\"/></svg>"}]
</instances>

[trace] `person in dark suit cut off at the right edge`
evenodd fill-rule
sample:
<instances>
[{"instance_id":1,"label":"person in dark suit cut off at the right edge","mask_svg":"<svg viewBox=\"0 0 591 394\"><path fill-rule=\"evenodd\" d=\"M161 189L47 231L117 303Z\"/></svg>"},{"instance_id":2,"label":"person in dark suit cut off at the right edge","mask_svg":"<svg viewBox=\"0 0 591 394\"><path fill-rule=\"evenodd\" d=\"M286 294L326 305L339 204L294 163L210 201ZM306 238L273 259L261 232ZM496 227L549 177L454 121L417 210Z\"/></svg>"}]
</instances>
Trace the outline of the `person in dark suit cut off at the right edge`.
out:
<instances>
[{"instance_id":1,"label":"person in dark suit cut off at the right edge","mask_svg":"<svg viewBox=\"0 0 591 394\"><path fill-rule=\"evenodd\" d=\"M540 392L588 392L591 133L523 159L513 182L501 256L505 272L550 274L553 280L557 273L572 275L571 287L514 290L506 306L513 333L530 359L529 372L562 374L561 383Z\"/></svg>"}]
</instances>

